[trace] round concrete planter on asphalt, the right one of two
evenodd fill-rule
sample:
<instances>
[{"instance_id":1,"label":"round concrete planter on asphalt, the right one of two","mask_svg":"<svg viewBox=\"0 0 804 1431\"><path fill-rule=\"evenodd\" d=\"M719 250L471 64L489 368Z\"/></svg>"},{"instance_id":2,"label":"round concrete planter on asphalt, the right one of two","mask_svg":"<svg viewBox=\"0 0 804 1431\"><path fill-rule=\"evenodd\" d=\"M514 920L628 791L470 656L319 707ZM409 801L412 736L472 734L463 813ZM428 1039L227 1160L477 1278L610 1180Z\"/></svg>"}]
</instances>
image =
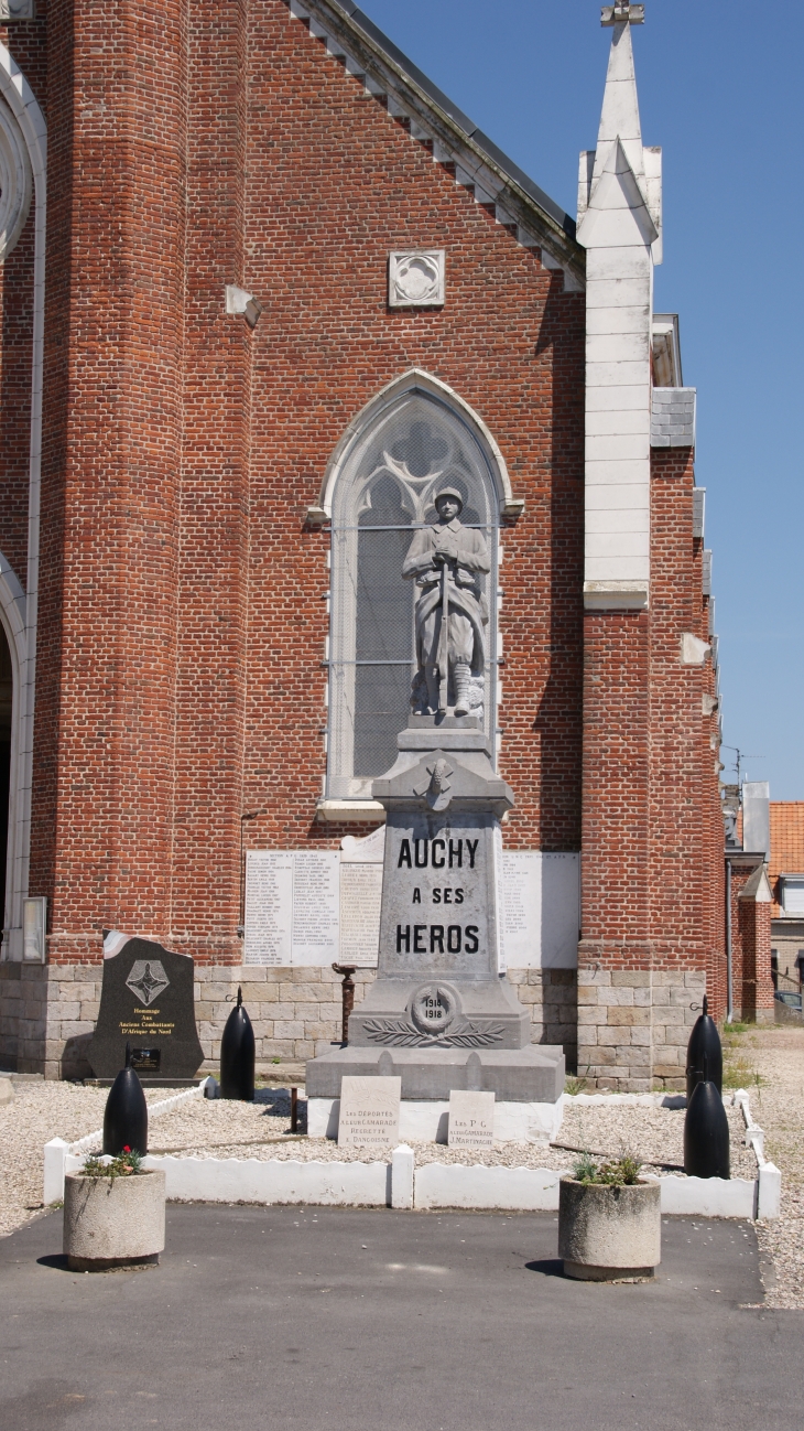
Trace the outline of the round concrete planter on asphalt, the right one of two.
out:
<instances>
[{"instance_id":1,"label":"round concrete planter on asphalt, the right one of two","mask_svg":"<svg viewBox=\"0 0 804 1431\"><path fill-rule=\"evenodd\" d=\"M609 1188L562 1178L558 1189L558 1255L564 1275L585 1282L654 1276L661 1262L658 1182Z\"/></svg>"}]
</instances>

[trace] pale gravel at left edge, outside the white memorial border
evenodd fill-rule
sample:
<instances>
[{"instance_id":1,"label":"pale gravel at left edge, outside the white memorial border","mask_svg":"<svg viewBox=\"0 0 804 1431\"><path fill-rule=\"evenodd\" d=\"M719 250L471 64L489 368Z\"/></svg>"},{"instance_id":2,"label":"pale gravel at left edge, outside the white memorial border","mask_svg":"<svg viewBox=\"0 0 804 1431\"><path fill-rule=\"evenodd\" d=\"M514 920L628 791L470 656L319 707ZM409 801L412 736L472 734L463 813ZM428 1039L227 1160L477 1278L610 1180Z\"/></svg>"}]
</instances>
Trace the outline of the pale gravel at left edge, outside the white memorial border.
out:
<instances>
[{"instance_id":1,"label":"pale gravel at left edge, outside the white memorial border","mask_svg":"<svg viewBox=\"0 0 804 1431\"><path fill-rule=\"evenodd\" d=\"M0 1108L0 1236L30 1222L41 1208L43 1148L52 1138L74 1142L103 1125L107 1088L79 1083L14 1083L13 1103ZM167 1089L167 1093L170 1090ZM165 1089L146 1093L149 1103Z\"/></svg>"}]
</instances>

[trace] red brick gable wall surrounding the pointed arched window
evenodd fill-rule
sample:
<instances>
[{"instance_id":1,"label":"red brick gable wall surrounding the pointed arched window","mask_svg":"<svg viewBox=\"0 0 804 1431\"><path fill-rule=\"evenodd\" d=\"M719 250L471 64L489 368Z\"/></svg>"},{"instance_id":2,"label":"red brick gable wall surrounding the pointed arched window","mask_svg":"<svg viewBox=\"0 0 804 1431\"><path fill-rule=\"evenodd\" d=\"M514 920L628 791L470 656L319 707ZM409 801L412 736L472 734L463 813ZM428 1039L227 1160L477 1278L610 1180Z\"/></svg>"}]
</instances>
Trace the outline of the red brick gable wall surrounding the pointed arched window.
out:
<instances>
[{"instance_id":1,"label":"red brick gable wall surrounding the pointed arched window","mask_svg":"<svg viewBox=\"0 0 804 1431\"><path fill-rule=\"evenodd\" d=\"M502 534L506 843L579 847L584 295L282 0L120 3L77 31L56 9L47 64L30 892L50 963L24 975L17 1033L9 996L3 1037L53 1070L94 1016L66 970L93 985L104 927L192 953L202 993L206 967L262 982L236 934L243 811L268 809L246 826L259 849L363 833L315 821L329 534L305 514L349 421L412 366L476 408L525 499ZM405 245L446 248L442 311L388 309ZM263 302L253 332L226 283ZM282 973L266 992L330 979ZM574 975L511 977L572 1056ZM333 1039L329 1003L276 999L265 1056ZM202 1022L212 1058L219 1015Z\"/></svg>"}]
</instances>

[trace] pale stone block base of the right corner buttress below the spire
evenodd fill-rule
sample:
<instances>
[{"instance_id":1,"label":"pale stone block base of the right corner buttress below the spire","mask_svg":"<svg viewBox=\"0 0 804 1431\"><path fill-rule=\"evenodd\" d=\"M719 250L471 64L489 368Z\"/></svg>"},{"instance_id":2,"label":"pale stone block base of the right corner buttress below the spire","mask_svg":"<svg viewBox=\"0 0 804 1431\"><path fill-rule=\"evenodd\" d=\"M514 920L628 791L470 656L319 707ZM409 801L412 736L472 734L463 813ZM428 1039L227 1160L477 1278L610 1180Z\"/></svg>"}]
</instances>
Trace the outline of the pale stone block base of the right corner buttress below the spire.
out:
<instances>
[{"instance_id":1,"label":"pale stone block base of the right corner buttress below the spire","mask_svg":"<svg viewBox=\"0 0 804 1431\"><path fill-rule=\"evenodd\" d=\"M702 970L579 969L578 1076L621 1093L682 1089L705 992Z\"/></svg>"}]
</instances>

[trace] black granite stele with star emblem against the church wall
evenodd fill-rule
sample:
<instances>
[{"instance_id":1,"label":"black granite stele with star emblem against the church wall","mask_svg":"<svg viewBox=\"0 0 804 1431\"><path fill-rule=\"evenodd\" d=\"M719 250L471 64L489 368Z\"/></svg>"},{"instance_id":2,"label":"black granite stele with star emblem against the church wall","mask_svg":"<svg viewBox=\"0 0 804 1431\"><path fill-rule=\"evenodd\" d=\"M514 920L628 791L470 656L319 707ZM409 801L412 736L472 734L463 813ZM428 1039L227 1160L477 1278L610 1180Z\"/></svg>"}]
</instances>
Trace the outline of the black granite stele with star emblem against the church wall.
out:
<instances>
[{"instance_id":1,"label":"black granite stele with star emblem against the church wall","mask_svg":"<svg viewBox=\"0 0 804 1431\"><path fill-rule=\"evenodd\" d=\"M150 939L116 930L103 942L100 1012L87 1059L99 1079L113 1079L126 1062L140 1080L192 1079L203 1062L195 1017L195 964Z\"/></svg>"}]
</instances>

